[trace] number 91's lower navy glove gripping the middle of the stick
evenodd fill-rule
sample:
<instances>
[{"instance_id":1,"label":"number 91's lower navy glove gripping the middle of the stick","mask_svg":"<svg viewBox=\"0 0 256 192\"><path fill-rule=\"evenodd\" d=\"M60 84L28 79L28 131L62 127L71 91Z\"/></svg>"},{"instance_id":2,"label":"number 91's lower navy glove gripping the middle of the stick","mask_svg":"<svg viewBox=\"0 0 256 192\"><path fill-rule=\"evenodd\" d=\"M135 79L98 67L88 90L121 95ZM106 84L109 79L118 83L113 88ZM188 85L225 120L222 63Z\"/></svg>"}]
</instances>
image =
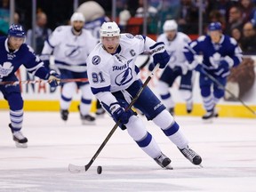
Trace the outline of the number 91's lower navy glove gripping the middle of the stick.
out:
<instances>
[{"instance_id":1,"label":"number 91's lower navy glove gripping the middle of the stick","mask_svg":"<svg viewBox=\"0 0 256 192\"><path fill-rule=\"evenodd\" d=\"M120 124L127 124L129 122L129 118L132 116L132 113L128 111L124 111L124 108L120 107L118 103L112 103L110 105L110 111L114 120L120 121Z\"/></svg>"}]
</instances>

